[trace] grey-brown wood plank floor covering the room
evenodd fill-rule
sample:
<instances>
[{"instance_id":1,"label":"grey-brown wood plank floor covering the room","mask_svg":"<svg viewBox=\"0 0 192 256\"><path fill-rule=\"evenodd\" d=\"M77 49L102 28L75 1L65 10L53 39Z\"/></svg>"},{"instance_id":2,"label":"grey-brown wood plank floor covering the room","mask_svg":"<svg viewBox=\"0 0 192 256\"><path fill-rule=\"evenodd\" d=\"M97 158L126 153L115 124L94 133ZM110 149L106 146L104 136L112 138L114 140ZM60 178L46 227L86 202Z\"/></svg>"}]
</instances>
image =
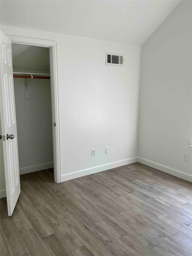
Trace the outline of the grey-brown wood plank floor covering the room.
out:
<instances>
[{"instance_id":1,"label":"grey-brown wood plank floor covering the room","mask_svg":"<svg viewBox=\"0 0 192 256\"><path fill-rule=\"evenodd\" d=\"M1 256L190 256L192 183L140 163L56 184L24 174Z\"/></svg>"}]
</instances>

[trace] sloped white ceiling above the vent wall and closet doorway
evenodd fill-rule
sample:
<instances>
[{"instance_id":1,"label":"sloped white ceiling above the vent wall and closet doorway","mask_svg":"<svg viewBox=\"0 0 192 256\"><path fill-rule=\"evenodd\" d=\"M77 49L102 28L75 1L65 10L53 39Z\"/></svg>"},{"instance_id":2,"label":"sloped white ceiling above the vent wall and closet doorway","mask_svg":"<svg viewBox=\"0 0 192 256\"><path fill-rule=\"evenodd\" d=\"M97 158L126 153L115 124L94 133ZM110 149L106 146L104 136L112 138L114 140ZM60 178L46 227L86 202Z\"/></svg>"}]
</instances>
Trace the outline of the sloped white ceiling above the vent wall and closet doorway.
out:
<instances>
[{"instance_id":1,"label":"sloped white ceiling above the vent wall and closet doorway","mask_svg":"<svg viewBox=\"0 0 192 256\"><path fill-rule=\"evenodd\" d=\"M1 24L142 45L177 0L1 0Z\"/></svg>"}]
</instances>

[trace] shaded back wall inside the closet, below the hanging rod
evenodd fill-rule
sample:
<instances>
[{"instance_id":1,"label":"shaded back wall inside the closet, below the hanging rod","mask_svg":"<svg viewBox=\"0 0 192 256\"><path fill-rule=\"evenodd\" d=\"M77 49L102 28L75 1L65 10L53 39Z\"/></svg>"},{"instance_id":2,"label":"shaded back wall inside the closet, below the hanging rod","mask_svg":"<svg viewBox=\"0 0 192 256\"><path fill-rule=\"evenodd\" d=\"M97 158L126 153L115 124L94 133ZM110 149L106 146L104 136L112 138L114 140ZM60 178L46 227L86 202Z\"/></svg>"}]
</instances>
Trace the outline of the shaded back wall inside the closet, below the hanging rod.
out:
<instances>
[{"instance_id":1,"label":"shaded back wall inside the closet, below the hanging rod","mask_svg":"<svg viewBox=\"0 0 192 256\"><path fill-rule=\"evenodd\" d=\"M24 79L14 78L20 174L53 167L51 86L49 79L30 79L25 99Z\"/></svg>"}]
</instances>

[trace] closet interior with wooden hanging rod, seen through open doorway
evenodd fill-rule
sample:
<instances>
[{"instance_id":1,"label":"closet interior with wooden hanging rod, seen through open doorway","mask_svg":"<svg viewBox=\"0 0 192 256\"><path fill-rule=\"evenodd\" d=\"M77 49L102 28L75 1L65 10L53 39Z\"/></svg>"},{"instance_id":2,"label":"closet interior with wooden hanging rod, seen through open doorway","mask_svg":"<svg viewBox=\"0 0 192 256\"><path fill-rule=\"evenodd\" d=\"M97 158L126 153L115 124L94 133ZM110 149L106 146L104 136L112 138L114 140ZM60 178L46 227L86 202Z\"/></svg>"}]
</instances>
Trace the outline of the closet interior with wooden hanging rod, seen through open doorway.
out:
<instances>
[{"instance_id":1,"label":"closet interior with wooden hanging rod, seen through open doorway","mask_svg":"<svg viewBox=\"0 0 192 256\"><path fill-rule=\"evenodd\" d=\"M19 173L53 168L49 48L12 44Z\"/></svg>"}]
</instances>

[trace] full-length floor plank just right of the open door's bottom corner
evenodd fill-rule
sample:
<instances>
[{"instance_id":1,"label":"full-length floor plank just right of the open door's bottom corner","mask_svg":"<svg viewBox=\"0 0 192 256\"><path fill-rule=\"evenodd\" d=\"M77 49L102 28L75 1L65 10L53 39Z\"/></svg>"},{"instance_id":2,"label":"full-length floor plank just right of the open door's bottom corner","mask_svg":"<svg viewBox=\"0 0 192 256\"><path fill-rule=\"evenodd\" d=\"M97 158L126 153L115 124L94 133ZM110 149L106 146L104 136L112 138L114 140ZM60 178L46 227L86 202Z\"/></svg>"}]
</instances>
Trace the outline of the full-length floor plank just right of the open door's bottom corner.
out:
<instances>
[{"instance_id":1,"label":"full-length floor plank just right of the open door's bottom corner","mask_svg":"<svg viewBox=\"0 0 192 256\"><path fill-rule=\"evenodd\" d=\"M44 219L44 217L29 200L29 198L20 200L19 205L31 222L32 226L37 231L40 238L44 238L55 233L54 230L52 230L52 228L49 226L47 221Z\"/></svg>"}]
</instances>

